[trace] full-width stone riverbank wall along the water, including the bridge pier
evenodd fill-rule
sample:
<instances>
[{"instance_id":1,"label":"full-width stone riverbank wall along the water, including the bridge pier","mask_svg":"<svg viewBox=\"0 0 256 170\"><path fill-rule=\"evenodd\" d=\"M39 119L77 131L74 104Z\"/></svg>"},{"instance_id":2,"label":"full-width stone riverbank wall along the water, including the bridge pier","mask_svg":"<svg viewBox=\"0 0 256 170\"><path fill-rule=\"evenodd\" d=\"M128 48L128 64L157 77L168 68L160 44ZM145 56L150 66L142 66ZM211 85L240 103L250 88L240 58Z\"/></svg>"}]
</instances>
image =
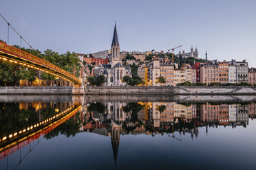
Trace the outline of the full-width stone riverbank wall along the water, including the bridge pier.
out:
<instances>
[{"instance_id":1,"label":"full-width stone riverbank wall along the water, including the bridge pier","mask_svg":"<svg viewBox=\"0 0 256 170\"><path fill-rule=\"evenodd\" d=\"M256 88L250 86L26 86L0 87L0 95L256 95Z\"/></svg>"}]
</instances>

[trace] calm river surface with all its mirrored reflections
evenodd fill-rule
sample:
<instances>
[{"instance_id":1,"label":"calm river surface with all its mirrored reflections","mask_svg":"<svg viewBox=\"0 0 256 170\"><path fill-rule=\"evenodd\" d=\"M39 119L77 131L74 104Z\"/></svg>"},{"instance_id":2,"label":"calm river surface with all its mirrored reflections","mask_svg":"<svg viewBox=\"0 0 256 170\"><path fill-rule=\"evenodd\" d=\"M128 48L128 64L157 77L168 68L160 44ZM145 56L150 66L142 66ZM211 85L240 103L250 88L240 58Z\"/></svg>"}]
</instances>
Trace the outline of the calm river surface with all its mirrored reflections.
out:
<instances>
[{"instance_id":1,"label":"calm river surface with all its mirrored reflections","mask_svg":"<svg viewBox=\"0 0 256 170\"><path fill-rule=\"evenodd\" d=\"M225 97L0 97L0 169L256 169L255 108Z\"/></svg>"}]
</instances>

